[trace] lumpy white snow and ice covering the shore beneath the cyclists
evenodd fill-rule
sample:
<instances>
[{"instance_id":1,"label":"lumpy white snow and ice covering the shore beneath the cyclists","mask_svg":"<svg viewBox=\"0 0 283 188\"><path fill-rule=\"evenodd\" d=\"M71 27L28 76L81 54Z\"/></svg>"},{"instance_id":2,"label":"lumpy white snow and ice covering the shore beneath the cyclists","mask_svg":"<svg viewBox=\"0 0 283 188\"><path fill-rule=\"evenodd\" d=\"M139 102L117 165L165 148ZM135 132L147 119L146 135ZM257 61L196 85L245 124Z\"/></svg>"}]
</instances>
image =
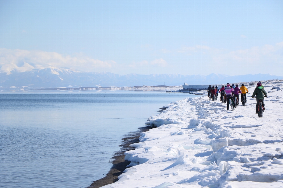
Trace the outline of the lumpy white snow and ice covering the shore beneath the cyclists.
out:
<instances>
[{"instance_id":1,"label":"lumpy white snow and ice covering the shore beneath the cyclists","mask_svg":"<svg viewBox=\"0 0 283 188\"><path fill-rule=\"evenodd\" d=\"M130 168L104 187L283 187L283 83L265 82L263 117L255 85L246 106L227 110L207 96L169 104L125 153Z\"/></svg>"}]
</instances>

